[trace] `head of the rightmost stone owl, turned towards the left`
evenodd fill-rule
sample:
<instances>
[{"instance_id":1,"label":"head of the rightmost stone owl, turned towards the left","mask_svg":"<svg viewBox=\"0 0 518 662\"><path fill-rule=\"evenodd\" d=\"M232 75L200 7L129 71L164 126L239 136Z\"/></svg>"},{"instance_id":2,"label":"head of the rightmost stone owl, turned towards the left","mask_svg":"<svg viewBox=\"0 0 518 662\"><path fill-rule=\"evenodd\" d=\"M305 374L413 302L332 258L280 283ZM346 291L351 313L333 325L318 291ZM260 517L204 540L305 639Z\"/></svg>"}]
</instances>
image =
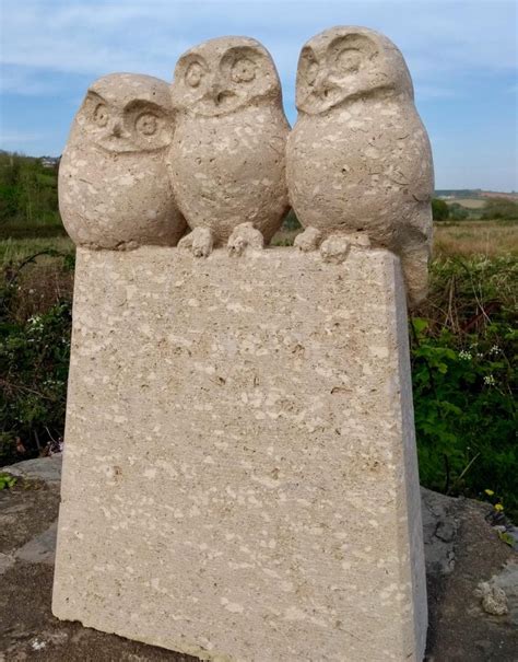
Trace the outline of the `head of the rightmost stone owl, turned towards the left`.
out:
<instances>
[{"instance_id":1,"label":"head of the rightmost stone owl, turned towards the left","mask_svg":"<svg viewBox=\"0 0 518 662\"><path fill-rule=\"evenodd\" d=\"M413 98L403 56L384 35L348 25L326 30L304 45L297 68L298 111L319 115L376 92Z\"/></svg>"}]
</instances>

